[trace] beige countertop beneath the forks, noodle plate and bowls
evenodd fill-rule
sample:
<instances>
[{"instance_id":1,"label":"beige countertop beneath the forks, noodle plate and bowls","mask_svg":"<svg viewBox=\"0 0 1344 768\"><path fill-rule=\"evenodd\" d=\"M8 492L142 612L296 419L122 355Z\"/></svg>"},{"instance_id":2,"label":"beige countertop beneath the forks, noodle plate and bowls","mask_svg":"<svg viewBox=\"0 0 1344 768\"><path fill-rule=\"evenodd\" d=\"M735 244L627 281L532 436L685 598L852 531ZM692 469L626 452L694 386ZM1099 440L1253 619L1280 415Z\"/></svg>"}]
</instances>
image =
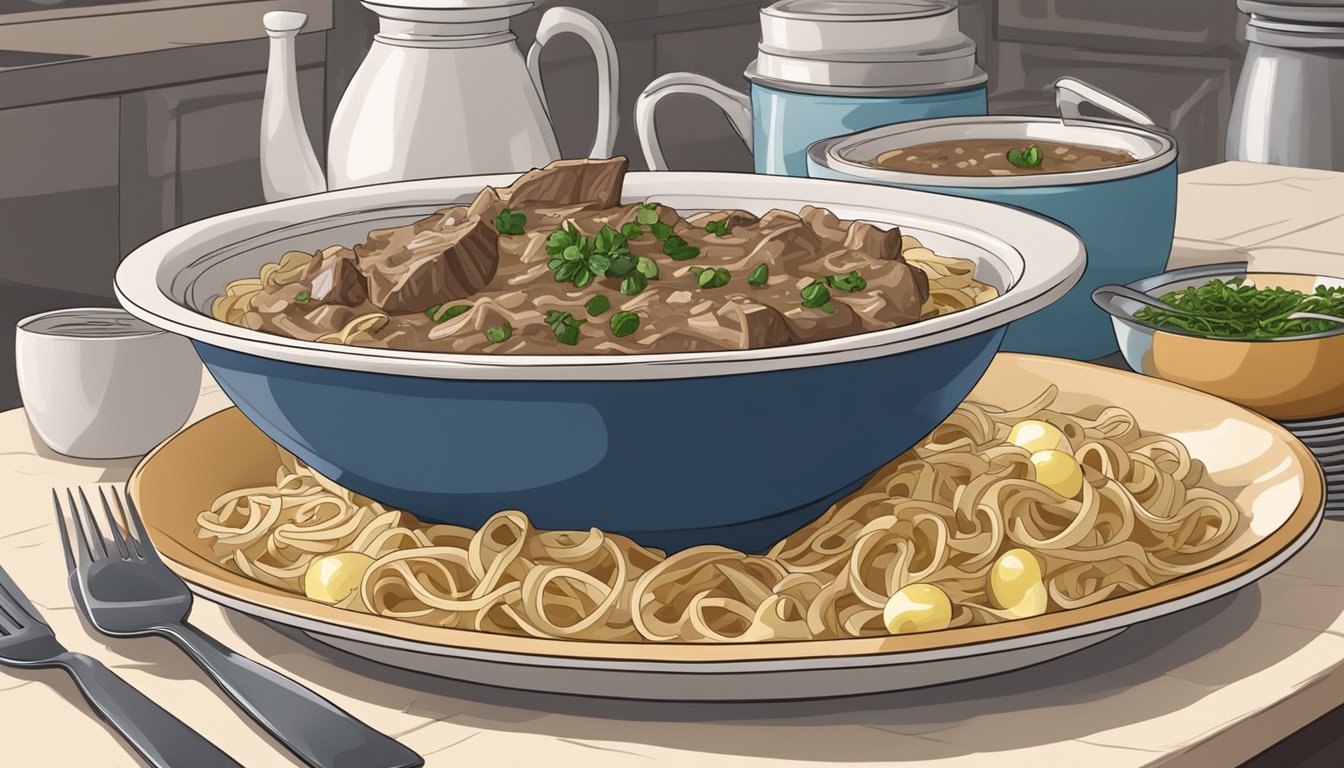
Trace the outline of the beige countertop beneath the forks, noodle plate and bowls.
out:
<instances>
[{"instance_id":1,"label":"beige countertop beneath the forks, noodle plate and bowls","mask_svg":"<svg viewBox=\"0 0 1344 768\"><path fill-rule=\"evenodd\" d=\"M1255 258L1344 273L1344 174L1224 164L1181 179L1173 261ZM1339 268L1335 265L1339 264ZM227 406L203 381L196 417ZM50 488L133 461L52 455L0 414L0 564L65 643L245 765L292 765L167 642L89 635L70 604ZM1344 705L1344 522L1241 593L1038 667L937 689L774 705L657 705L452 683L316 651L199 600L198 625L396 736L430 767L1232 767ZM0 668L7 765L136 765L65 674Z\"/></svg>"}]
</instances>

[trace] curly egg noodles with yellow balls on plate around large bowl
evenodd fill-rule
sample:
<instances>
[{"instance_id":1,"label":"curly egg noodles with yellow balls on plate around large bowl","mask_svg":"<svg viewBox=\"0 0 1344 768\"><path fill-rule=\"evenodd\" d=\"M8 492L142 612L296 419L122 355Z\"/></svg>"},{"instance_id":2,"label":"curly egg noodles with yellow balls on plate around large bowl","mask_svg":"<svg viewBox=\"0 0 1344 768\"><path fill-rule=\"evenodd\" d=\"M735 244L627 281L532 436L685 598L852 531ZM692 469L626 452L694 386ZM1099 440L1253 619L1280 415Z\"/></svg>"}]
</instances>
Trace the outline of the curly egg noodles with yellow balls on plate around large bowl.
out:
<instances>
[{"instance_id":1,"label":"curly egg noodles with yellow balls on plate around large bowl","mask_svg":"<svg viewBox=\"0 0 1344 768\"><path fill-rule=\"evenodd\" d=\"M519 511L480 530L421 523L284 452L274 486L220 496L200 512L199 535L227 568L343 608L621 642L986 624L1094 604L1224 557L1242 516L1200 486L1204 468L1184 445L1141 432L1120 408L1051 410L1055 395L1013 410L962 404L763 555L699 546L668 557L598 530L535 530ZM1038 452L1042 436L1058 453Z\"/></svg>"}]
</instances>

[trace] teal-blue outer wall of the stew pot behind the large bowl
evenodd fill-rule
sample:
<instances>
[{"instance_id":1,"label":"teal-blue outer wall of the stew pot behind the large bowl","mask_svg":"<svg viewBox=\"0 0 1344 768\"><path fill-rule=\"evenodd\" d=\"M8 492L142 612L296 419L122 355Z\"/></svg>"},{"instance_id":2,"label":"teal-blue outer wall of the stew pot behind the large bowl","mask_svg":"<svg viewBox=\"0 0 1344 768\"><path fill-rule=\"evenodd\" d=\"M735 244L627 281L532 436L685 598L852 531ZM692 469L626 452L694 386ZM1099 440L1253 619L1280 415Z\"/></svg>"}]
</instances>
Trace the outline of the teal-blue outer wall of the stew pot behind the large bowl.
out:
<instances>
[{"instance_id":1,"label":"teal-blue outer wall of the stew pot behind the large bowl","mask_svg":"<svg viewBox=\"0 0 1344 768\"><path fill-rule=\"evenodd\" d=\"M809 159L808 175L863 180ZM880 183L880 182L876 182ZM1082 280L1059 301L1008 327L1003 348L1078 360L1116 351L1110 316L1091 292L1110 282L1130 282L1167 268L1176 233L1176 161L1138 176L1051 187L952 187L891 184L1003 203L1035 211L1073 229L1087 247ZM1031 253L1024 253L1028 269Z\"/></svg>"}]
</instances>

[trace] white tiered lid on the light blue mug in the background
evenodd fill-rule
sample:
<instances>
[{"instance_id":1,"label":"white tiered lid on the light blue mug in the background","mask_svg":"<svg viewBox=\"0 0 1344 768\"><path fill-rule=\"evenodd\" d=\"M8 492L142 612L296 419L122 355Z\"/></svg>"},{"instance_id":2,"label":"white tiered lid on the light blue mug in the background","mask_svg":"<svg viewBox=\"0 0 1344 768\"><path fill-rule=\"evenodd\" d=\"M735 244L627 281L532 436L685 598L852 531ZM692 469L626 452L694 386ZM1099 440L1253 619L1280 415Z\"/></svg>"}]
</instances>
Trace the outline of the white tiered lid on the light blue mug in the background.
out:
<instances>
[{"instance_id":1,"label":"white tiered lid on the light blue mug in the background","mask_svg":"<svg viewBox=\"0 0 1344 768\"><path fill-rule=\"evenodd\" d=\"M813 87L902 89L982 75L956 0L781 0L761 11L749 77Z\"/></svg>"}]
</instances>

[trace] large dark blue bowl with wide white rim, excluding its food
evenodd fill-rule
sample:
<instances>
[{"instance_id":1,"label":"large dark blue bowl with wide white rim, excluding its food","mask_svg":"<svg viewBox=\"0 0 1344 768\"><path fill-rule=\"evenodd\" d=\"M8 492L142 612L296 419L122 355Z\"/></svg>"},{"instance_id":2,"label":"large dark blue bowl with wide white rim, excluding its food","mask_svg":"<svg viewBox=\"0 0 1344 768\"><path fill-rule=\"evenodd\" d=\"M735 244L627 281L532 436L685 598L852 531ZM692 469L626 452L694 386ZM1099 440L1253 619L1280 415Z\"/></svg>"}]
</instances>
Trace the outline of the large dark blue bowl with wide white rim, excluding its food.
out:
<instances>
[{"instance_id":1,"label":"large dark blue bowl with wide white rim, excluding its food","mask_svg":"<svg viewBox=\"0 0 1344 768\"><path fill-rule=\"evenodd\" d=\"M224 214L141 246L122 304L192 339L238 408L335 482L421 519L599 527L679 550L759 551L914 445L970 391L1004 327L1062 296L1077 237L1020 211L863 184L630 174L626 200L683 211L824 206L900 223L970 258L1003 296L844 339L659 355L449 355L320 344L203 313L224 284L290 249L358 242L469 200L505 176L383 184ZM301 222L301 223L292 223ZM1020 247L1030 245L1027 262Z\"/></svg>"}]
</instances>

